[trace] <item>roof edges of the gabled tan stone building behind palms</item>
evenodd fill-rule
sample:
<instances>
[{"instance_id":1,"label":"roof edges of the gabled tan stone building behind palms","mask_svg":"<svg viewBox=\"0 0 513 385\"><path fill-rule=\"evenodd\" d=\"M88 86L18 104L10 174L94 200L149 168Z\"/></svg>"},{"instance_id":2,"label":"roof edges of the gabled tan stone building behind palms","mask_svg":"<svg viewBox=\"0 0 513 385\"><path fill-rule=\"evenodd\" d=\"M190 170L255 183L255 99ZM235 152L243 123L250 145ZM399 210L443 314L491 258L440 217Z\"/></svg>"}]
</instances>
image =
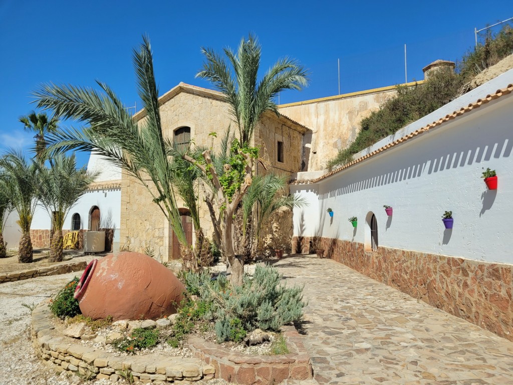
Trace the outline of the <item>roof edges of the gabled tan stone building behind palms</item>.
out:
<instances>
[{"instance_id":1,"label":"roof edges of the gabled tan stone building behind palms","mask_svg":"<svg viewBox=\"0 0 513 385\"><path fill-rule=\"evenodd\" d=\"M169 100L173 99L177 94L179 94L181 92L186 92L186 93L190 93L190 94L193 94L193 95L198 95L199 97L202 97L202 98L210 98L210 99L214 99L214 100L219 100L221 102L225 102L224 95L221 92L219 92L219 91L214 91L214 90L211 90L211 89L208 89L208 88L193 86L193 85L181 82L179 85L171 88L169 91L167 91L165 94L163 94L159 98L159 106L162 106L164 103L166 103ZM274 114L273 112L267 111L266 115L268 117L274 117L275 119L280 120L282 123L293 125L294 128L297 129L297 131L299 131L301 133L306 133L306 132L310 132L311 131L308 127L306 127L306 126L302 125L301 123L296 122L296 121L286 117L283 114L280 114L280 116L277 117L276 114ZM133 115L133 119L138 121L138 120L144 118L145 116L146 116L146 111L144 109L142 109L142 110L140 110L139 112L136 112Z\"/></svg>"}]
</instances>

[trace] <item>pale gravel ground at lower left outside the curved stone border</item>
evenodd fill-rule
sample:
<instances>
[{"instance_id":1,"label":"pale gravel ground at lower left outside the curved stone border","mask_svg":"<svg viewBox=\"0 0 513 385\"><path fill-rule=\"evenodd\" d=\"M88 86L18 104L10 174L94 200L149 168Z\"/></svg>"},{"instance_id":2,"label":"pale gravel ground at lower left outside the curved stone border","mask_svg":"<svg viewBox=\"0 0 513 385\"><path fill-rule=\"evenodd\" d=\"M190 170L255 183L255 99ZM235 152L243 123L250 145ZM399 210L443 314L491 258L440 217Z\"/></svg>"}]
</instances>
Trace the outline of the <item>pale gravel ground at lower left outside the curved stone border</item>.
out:
<instances>
[{"instance_id":1,"label":"pale gravel ground at lower left outside the curved stone border","mask_svg":"<svg viewBox=\"0 0 513 385\"><path fill-rule=\"evenodd\" d=\"M60 290L82 272L37 277L0 284L0 385L112 385L109 380L83 382L79 377L57 375L41 363L30 340L30 310L23 304L36 305ZM124 381L116 382L124 383ZM213 379L200 384L228 385Z\"/></svg>"}]
</instances>

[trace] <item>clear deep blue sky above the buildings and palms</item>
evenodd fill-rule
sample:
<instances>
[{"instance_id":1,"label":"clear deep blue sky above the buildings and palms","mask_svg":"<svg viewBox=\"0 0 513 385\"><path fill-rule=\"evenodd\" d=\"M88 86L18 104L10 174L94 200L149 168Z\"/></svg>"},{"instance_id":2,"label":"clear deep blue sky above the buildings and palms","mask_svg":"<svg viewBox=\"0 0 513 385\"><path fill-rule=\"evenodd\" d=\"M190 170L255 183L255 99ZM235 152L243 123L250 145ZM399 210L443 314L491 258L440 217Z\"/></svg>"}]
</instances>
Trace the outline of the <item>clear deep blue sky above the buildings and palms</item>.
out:
<instances>
[{"instance_id":1,"label":"clear deep blue sky above the buildings and palms","mask_svg":"<svg viewBox=\"0 0 513 385\"><path fill-rule=\"evenodd\" d=\"M137 97L132 48L148 33L160 93L194 79L200 47L236 47L249 31L260 38L263 68L288 55L311 71L302 93L281 103L422 79L436 59L457 60L473 46L473 28L513 17L511 0L482 1L98 1L0 0L0 153L27 148L33 134L17 121L30 93L45 82L109 84L127 106ZM139 109L139 108L138 108ZM87 156L79 157L81 163Z\"/></svg>"}]
</instances>

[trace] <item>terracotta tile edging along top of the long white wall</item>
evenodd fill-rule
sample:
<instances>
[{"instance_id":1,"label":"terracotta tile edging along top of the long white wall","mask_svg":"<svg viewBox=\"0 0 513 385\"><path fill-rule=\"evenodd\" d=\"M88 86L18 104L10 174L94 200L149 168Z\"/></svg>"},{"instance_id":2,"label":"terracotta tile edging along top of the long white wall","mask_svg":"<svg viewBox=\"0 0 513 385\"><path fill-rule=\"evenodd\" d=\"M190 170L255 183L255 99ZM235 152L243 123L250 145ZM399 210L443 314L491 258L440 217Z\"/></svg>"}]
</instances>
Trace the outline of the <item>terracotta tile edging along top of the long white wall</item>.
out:
<instances>
[{"instance_id":1,"label":"terracotta tile edging along top of the long white wall","mask_svg":"<svg viewBox=\"0 0 513 385\"><path fill-rule=\"evenodd\" d=\"M439 120L433 122L433 123L430 123L422 128L419 128L418 130L416 131L413 131L411 132L410 134L408 135L405 135L404 137L400 138L400 139L397 139L391 143L388 143L370 153L368 153L367 155L363 156L363 157L360 157L358 159L355 159L353 160L352 162L349 162L337 169L334 169L333 171L330 171L328 172L327 174L324 174L323 176L319 177L319 178L315 178L315 179L312 179L312 180L302 180L302 181L295 181L295 182L292 182L291 184L309 184L309 183L317 183L319 181L322 181L326 178L329 178L331 177L332 175L334 174L338 174L340 171L342 170L345 170L346 168L349 168L351 166L354 166L366 159L369 159L371 157L374 157L392 147L395 147L399 144L402 144L404 142L406 142L407 140L410 140L410 139L413 139L417 136L419 136L420 134L423 134L424 132L427 132L429 131L430 129L432 128L435 128L435 127L438 127L448 121L451 121L452 119L455 119L461 115L463 115L464 113L467 113L467 112L470 112L472 110L475 110L476 108L479 108L481 107L482 105L484 104L487 104L489 102L491 102L492 100L496 100L496 99L499 99L501 97L503 97L504 95L507 95L509 93L513 92L513 84L508 84L505 88L502 88L502 89L498 89L495 93L493 94L488 94L486 95L485 98L483 99L478 99L476 102L474 103L470 103L468 104L467 106L465 107L461 107L458 111L453 111L452 113L449 113L447 115L445 115L445 117L443 118L440 118Z\"/></svg>"}]
</instances>

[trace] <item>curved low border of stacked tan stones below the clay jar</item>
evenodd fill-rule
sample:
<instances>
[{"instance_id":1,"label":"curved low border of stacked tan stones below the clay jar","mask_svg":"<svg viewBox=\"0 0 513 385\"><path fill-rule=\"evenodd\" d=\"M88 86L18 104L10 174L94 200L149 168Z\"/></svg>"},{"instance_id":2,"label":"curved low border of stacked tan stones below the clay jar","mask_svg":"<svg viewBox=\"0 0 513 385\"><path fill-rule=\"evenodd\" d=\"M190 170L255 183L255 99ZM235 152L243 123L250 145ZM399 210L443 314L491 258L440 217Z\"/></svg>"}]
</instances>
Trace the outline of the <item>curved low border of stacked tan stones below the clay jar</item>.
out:
<instances>
[{"instance_id":1,"label":"curved low border of stacked tan stones below the clay jar","mask_svg":"<svg viewBox=\"0 0 513 385\"><path fill-rule=\"evenodd\" d=\"M129 371L135 381L143 383L192 382L211 379L212 365L197 358L164 357L156 354L116 357L112 353L94 350L80 343L66 342L52 325L53 315L48 301L32 312L32 346L38 357L57 373L67 371L90 378L120 378L117 371Z\"/></svg>"}]
</instances>

